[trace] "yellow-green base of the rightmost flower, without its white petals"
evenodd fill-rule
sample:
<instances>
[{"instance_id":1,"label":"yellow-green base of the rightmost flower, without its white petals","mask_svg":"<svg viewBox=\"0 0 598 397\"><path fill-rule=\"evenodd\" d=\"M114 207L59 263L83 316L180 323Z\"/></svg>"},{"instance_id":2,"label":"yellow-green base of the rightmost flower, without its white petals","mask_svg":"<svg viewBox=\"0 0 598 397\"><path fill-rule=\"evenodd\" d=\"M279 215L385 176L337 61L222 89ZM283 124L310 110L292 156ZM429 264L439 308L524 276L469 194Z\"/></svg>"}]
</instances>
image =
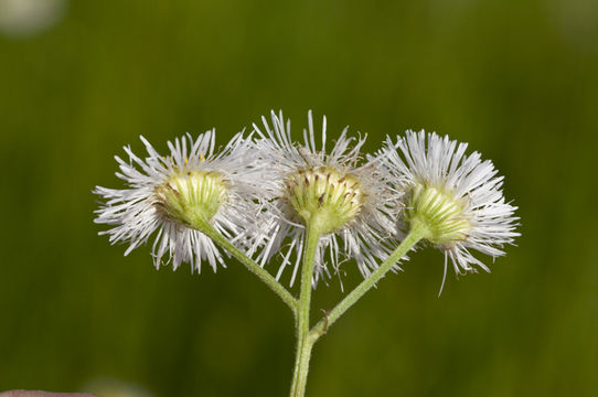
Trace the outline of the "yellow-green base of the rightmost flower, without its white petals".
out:
<instances>
[{"instance_id":1,"label":"yellow-green base of the rightmost flower, without its white petals","mask_svg":"<svg viewBox=\"0 0 598 397\"><path fill-rule=\"evenodd\" d=\"M464 205L441 189L416 183L409 192L405 219L413 227L419 223L427 228L426 239L450 246L469 236L471 224L463 215Z\"/></svg>"}]
</instances>

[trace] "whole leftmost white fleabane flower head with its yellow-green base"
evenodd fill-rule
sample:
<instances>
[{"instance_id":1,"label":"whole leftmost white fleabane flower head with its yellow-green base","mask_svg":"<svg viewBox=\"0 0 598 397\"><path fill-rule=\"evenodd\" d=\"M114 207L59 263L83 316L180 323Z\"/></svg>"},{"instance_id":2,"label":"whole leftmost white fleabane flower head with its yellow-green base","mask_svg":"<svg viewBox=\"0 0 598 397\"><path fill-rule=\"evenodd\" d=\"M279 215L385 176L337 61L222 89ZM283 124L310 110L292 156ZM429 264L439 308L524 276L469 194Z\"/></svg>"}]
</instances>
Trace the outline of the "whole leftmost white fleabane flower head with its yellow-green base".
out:
<instances>
[{"instance_id":1,"label":"whole leftmost white fleabane flower head with its yellow-green base","mask_svg":"<svg viewBox=\"0 0 598 397\"><path fill-rule=\"evenodd\" d=\"M241 235L252 229L258 202L259 172L252 167L250 140L237 133L228 144L215 153L214 130L193 140L186 135L168 142L170 154L160 155L143 138L148 157L141 159L129 147L129 161L115 157L120 172L116 175L127 189L97 186L94 191L105 198L96 211L98 224L114 225L100 232L110 243L127 242L128 255L156 234L152 256L156 267L172 262L190 262L201 271L207 260L216 270L223 257L212 239L200 232L201 225L212 225L237 245L246 239ZM241 233L243 232L243 233Z\"/></svg>"}]
</instances>

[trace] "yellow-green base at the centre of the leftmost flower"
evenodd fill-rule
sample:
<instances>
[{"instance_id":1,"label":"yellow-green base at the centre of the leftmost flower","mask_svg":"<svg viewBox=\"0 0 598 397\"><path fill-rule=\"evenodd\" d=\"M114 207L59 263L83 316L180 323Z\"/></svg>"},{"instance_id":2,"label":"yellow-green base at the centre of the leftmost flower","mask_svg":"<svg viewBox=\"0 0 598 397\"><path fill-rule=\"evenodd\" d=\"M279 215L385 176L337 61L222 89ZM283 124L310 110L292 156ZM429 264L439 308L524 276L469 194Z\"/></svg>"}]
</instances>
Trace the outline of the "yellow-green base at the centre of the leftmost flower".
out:
<instances>
[{"instance_id":1,"label":"yellow-green base at the centre of the leftmost flower","mask_svg":"<svg viewBox=\"0 0 598 397\"><path fill-rule=\"evenodd\" d=\"M178 173L156 186L156 205L168 218L193 226L210 222L226 200L226 180L215 171Z\"/></svg>"}]
</instances>

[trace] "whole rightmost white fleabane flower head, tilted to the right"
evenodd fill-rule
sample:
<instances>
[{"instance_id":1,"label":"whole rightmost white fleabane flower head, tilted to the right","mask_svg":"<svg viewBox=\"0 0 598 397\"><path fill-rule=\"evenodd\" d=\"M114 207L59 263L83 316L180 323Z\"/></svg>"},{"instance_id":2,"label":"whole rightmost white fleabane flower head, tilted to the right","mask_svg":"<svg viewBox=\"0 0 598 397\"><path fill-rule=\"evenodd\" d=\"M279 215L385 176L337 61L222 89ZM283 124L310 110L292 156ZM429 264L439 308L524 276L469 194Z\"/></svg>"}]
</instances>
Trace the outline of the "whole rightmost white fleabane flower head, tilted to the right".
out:
<instances>
[{"instance_id":1,"label":"whole rightmost white fleabane flower head, tilted to the right","mask_svg":"<svg viewBox=\"0 0 598 397\"><path fill-rule=\"evenodd\" d=\"M503 176L480 153L466 155L467 146L434 132L407 131L396 144L387 138L378 153L404 192L405 232L424 230L424 239L451 259L458 275L476 271L474 266L490 271L470 249L495 258L520 235L516 207L503 196ZM445 276L446 267L445 261Z\"/></svg>"}]
</instances>

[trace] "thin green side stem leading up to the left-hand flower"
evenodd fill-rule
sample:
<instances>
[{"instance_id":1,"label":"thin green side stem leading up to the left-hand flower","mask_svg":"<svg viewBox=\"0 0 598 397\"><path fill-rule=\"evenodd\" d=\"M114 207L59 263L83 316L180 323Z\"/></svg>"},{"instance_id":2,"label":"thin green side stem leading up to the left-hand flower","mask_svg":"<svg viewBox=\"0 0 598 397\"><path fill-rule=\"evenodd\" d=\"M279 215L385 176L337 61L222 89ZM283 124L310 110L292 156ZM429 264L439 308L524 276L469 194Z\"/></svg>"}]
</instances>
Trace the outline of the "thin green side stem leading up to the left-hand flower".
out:
<instances>
[{"instance_id":1,"label":"thin green side stem leading up to the left-hand flower","mask_svg":"<svg viewBox=\"0 0 598 397\"><path fill-rule=\"evenodd\" d=\"M282 287L268 271L264 270L255 260L243 254L243 251L228 242L214 228L214 226L210 225L210 223L196 218L193 219L193 227L212 238L217 245L231 253L235 259L245 265L250 272L256 275L266 283L266 286L268 286L278 297L280 297L280 299L282 299L282 301L290 308L292 313L297 315L297 299L289 291L287 291L287 289Z\"/></svg>"}]
</instances>

